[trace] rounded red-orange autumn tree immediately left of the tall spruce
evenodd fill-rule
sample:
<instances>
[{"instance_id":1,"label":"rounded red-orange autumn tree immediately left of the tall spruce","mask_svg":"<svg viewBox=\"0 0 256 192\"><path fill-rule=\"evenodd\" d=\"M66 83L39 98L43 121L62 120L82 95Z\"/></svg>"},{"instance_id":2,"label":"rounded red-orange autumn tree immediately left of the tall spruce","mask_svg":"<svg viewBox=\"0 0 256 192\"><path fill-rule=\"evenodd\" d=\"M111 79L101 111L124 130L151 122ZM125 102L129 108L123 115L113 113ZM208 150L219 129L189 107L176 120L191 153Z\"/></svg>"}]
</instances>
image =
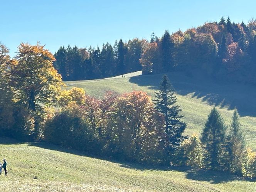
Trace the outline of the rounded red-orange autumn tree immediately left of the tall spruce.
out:
<instances>
[{"instance_id":1,"label":"rounded red-orange autumn tree immediately left of the tall spruce","mask_svg":"<svg viewBox=\"0 0 256 192\"><path fill-rule=\"evenodd\" d=\"M140 162L159 160L162 118L146 93L133 91L120 96L111 122L113 141L109 145L116 158Z\"/></svg>"}]
</instances>

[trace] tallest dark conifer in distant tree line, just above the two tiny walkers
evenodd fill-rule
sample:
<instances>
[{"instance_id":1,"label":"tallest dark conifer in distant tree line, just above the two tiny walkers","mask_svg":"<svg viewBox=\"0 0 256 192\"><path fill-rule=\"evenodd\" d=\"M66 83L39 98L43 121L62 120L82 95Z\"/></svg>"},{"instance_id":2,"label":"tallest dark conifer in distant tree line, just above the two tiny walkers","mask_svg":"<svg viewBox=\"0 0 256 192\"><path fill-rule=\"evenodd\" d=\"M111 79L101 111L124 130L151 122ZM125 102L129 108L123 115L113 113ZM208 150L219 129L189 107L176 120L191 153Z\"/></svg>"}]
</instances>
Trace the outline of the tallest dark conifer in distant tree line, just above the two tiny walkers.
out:
<instances>
[{"instance_id":1,"label":"tallest dark conifer in distant tree line, just above the two tiny walkers","mask_svg":"<svg viewBox=\"0 0 256 192\"><path fill-rule=\"evenodd\" d=\"M117 74L125 73L125 55L126 55L126 47L123 43L123 40L120 39L118 42L118 50L117 50L117 58L116 58L116 72Z\"/></svg>"}]
</instances>

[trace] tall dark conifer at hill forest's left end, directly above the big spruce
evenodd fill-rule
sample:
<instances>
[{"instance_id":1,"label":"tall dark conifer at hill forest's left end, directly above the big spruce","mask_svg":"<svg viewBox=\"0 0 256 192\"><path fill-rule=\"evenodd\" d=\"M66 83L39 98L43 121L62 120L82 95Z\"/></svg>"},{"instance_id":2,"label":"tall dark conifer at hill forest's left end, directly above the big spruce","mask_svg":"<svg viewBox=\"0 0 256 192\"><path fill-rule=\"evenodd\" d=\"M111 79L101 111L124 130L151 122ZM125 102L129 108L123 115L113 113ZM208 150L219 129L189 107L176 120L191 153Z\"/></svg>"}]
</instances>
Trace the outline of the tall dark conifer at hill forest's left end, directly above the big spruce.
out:
<instances>
[{"instance_id":1,"label":"tall dark conifer at hill forest's left end, directly above the big spruce","mask_svg":"<svg viewBox=\"0 0 256 192\"><path fill-rule=\"evenodd\" d=\"M160 44L160 52L162 56L162 66L165 72L170 72L173 69L173 62L172 62L172 49L173 43L171 40L171 35L168 30L165 30L163 37L161 39Z\"/></svg>"}]
</instances>

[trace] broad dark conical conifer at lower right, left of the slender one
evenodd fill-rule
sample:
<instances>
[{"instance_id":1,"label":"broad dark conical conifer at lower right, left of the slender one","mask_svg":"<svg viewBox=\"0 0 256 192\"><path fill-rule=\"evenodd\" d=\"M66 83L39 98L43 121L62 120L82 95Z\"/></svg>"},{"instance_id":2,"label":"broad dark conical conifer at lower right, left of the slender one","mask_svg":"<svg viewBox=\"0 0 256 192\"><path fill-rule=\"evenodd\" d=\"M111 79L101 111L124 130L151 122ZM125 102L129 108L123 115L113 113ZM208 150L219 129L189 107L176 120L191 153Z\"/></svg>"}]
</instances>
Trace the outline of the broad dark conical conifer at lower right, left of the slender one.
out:
<instances>
[{"instance_id":1,"label":"broad dark conical conifer at lower right, left of the slender one","mask_svg":"<svg viewBox=\"0 0 256 192\"><path fill-rule=\"evenodd\" d=\"M208 116L201 137L207 168L224 170L225 157L227 157L226 129L221 114L214 107Z\"/></svg>"}]
</instances>

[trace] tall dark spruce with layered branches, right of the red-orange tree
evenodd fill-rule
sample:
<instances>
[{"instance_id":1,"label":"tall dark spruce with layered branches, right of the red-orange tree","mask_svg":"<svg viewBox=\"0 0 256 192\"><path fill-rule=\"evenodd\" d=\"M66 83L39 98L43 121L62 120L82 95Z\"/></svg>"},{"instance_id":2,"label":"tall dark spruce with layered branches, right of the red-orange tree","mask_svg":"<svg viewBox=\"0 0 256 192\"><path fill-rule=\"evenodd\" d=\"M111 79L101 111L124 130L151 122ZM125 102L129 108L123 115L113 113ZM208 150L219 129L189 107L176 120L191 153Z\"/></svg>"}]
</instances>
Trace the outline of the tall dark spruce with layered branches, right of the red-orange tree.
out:
<instances>
[{"instance_id":1,"label":"tall dark spruce with layered branches, right of the red-orange tree","mask_svg":"<svg viewBox=\"0 0 256 192\"><path fill-rule=\"evenodd\" d=\"M159 91L155 92L155 108L165 119L165 134L167 136L167 151L170 155L170 160L173 161L177 147L185 139L183 135L186 128L186 123L181 121L183 117L180 115L179 106L175 105L177 97L174 95L172 84L168 77L164 75L160 83Z\"/></svg>"}]
</instances>

